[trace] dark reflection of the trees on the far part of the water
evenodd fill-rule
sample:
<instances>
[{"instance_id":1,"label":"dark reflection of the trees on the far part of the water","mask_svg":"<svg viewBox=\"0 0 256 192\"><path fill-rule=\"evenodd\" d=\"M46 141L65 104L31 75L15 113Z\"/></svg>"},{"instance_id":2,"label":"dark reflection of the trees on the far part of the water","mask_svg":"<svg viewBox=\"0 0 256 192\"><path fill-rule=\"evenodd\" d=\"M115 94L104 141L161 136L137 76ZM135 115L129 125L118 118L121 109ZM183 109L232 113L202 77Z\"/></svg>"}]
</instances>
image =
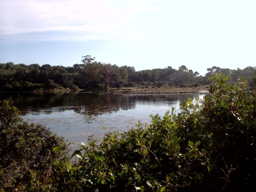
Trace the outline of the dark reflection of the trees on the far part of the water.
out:
<instances>
[{"instance_id":1,"label":"dark reflection of the trees on the far part of the water","mask_svg":"<svg viewBox=\"0 0 256 192\"><path fill-rule=\"evenodd\" d=\"M187 100L195 95L156 95L158 100ZM51 114L53 112L63 112L73 110L75 113L88 116L88 122L93 117L117 112L119 110L134 109L136 104L154 103L152 95L135 94L111 94L111 93L13 93L1 94L0 99L14 101L21 115L28 113ZM87 121L87 120L86 120Z\"/></svg>"}]
</instances>

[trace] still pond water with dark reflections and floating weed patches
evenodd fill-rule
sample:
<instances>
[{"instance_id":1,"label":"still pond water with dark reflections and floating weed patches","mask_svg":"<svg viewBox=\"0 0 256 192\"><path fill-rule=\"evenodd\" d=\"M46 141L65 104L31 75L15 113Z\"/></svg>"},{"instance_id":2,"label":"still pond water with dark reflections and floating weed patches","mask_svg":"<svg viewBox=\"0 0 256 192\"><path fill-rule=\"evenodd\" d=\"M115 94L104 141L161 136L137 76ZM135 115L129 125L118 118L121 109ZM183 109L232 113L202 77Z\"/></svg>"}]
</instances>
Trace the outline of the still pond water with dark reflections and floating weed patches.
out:
<instances>
[{"instance_id":1,"label":"still pond water with dark reflections and floating weed patches","mask_svg":"<svg viewBox=\"0 0 256 192\"><path fill-rule=\"evenodd\" d=\"M105 132L124 132L150 123L150 114L160 116L188 98L203 99L204 94L111 94L79 93L13 93L1 94L0 99L14 101L28 123L45 124L51 131L72 142L87 142L89 135L101 139ZM102 127L106 127L103 130Z\"/></svg>"}]
</instances>

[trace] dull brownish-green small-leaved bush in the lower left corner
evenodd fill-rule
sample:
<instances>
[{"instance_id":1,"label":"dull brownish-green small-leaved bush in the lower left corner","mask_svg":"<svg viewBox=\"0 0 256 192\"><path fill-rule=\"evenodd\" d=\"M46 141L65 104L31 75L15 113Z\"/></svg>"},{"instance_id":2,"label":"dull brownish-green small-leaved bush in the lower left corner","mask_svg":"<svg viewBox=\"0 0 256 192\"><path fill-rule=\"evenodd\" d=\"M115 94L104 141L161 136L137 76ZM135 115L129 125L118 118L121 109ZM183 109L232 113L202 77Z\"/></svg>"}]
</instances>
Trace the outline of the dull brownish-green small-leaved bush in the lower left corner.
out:
<instances>
[{"instance_id":1,"label":"dull brownish-green small-leaved bush in the lower left corner","mask_svg":"<svg viewBox=\"0 0 256 192\"><path fill-rule=\"evenodd\" d=\"M0 100L0 189L44 190L52 176L52 162L65 161L66 145L41 124L28 124L11 106ZM52 151L60 145L62 152Z\"/></svg>"}]
</instances>

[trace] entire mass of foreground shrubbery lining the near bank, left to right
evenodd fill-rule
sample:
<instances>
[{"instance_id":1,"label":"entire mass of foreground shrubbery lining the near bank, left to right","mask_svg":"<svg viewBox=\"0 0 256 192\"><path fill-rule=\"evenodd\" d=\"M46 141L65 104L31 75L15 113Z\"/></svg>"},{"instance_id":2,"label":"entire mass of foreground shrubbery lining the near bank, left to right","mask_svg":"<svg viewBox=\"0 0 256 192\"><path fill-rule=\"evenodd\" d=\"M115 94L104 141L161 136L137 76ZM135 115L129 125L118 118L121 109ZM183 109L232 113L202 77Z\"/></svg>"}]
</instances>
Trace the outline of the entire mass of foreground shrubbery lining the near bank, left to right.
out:
<instances>
[{"instance_id":1,"label":"entire mass of foreground shrubbery lining the near bank, left to right","mask_svg":"<svg viewBox=\"0 0 256 192\"><path fill-rule=\"evenodd\" d=\"M256 73L247 81L209 77L203 100L191 99L151 124L71 141L28 124L0 101L1 191L253 191L256 187Z\"/></svg>"}]
</instances>

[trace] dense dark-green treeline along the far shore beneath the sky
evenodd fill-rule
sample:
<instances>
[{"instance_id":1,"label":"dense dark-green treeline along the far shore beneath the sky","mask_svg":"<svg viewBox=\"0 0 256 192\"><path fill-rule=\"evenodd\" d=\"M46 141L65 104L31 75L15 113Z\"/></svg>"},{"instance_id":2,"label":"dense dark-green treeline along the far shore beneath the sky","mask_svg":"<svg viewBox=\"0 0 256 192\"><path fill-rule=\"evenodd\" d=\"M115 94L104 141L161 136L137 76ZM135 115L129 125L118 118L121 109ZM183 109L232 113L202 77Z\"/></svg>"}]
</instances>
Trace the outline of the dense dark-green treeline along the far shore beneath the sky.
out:
<instances>
[{"instance_id":1,"label":"dense dark-green treeline along the far shore beneath the sky","mask_svg":"<svg viewBox=\"0 0 256 192\"><path fill-rule=\"evenodd\" d=\"M239 77L248 79L255 68L231 70L228 68L208 68L205 76L193 72L182 65L178 70L167 68L135 71L134 67L97 62L91 56L83 57L82 64L73 67L18 64L12 62L0 64L0 91L35 91L35 90L79 90L108 87L133 86L198 86L209 84L207 77L214 73L230 75L233 82Z\"/></svg>"}]
</instances>

